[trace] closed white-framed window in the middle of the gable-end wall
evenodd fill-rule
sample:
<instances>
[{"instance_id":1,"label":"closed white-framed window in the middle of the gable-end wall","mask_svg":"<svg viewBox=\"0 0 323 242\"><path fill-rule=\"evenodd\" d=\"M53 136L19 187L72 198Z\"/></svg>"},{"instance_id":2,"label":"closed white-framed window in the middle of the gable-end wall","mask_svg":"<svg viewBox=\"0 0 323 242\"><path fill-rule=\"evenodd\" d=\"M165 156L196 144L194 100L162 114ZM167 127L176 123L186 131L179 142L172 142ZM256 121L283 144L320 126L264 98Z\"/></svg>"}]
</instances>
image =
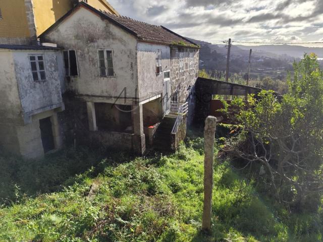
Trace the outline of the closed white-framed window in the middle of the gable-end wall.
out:
<instances>
[{"instance_id":1,"label":"closed white-framed window in the middle of the gable-end wall","mask_svg":"<svg viewBox=\"0 0 323 242\"><path fill-rule=\"evenodd\" d=\"M114 77L115 71L113 65L113 50L99 49L97 53L99 58L100 77Z\"/></svg>"}]
</instances>

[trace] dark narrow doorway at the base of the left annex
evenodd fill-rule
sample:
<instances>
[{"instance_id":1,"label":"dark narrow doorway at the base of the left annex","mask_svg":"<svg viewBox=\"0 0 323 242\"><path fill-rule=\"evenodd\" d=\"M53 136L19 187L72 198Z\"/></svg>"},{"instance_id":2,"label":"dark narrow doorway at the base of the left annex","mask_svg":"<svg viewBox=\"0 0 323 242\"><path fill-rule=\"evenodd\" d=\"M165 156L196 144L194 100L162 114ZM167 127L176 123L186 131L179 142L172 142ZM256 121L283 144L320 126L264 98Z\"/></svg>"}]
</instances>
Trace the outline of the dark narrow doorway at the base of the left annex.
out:
<instances>
[{"instance_id":1,"label":"dark narrow doorway at the base of the left annex","mask_svg":"<svg viewBox=\"0 0 323 242\"><path fill-rule=\"evenodd\" d=\"M50 117L39 119L39 128L44 153L55 149Z\"/></svg>"}]
</instances>

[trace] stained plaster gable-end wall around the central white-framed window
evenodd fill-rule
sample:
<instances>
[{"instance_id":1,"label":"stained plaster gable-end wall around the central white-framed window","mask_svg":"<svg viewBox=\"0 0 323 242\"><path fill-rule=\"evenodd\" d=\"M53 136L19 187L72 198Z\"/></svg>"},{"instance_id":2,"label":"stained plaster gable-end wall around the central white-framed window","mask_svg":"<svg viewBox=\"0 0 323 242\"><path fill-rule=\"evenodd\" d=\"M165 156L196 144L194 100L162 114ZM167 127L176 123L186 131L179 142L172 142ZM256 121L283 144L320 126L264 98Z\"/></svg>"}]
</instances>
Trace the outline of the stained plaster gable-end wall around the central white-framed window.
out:
<instances>
[{"instance_id":1,"label":"stained plaster gable-end wall around the central white-framed window","mask_svg":"<svg viewBox=\"0 0 323 242\"><path fill-rule=\"evenodd\" d=\"M137 97L137 40L120 27L80 8L45 37L77 52L79 77L71 77L67 88L79 95ZM99 77L98 48L112 48L115 77Z\"/></svg>"}]
</instances>

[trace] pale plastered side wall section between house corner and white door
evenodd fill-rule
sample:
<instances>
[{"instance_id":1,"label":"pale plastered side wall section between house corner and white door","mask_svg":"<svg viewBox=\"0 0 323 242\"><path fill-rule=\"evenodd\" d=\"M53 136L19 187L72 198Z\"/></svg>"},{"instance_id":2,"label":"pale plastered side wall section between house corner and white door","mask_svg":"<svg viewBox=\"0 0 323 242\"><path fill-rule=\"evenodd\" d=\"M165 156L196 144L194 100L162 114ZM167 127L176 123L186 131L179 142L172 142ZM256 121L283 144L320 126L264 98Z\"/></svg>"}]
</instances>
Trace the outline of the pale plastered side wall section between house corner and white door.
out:
<instances>
[{"instance_id":1,"label":"pale plastered side wall section between house corner and white door","mask_svg":"<svg viewBox=\"0 0 323 242\"><path fill-rule=\"evenodd\" d=\"M161 49L163 72L170 71L171 50L169 46L143 42L139 42L137 45L139 97L141 100L163 93L164 73L156 75L156 51L158 49Z\"/></svg>"}]
</instances>

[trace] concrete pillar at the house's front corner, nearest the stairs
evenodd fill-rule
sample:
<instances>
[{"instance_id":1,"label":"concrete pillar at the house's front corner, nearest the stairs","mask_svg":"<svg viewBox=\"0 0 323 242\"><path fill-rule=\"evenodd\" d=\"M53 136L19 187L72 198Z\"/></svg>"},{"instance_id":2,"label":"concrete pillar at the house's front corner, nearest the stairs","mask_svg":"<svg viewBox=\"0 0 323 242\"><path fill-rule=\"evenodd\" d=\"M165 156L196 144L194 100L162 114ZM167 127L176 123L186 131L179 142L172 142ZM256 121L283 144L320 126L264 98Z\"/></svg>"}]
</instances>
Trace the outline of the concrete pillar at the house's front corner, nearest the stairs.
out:
<instances>
[{"instance_id":1,"label":"concrete pillar at the house's front corner, nearest the stairs","mask_svg":"<svg viewBox=\"0 0 323 242\"><path fill-rule=\"evenodd\" d=\"M143 154L146 150L145 135L143 133L143 115L142 105L132 106L132 118L133 118L133 129L134 129L134 151Z\"/></svg>"}]
</instances>

